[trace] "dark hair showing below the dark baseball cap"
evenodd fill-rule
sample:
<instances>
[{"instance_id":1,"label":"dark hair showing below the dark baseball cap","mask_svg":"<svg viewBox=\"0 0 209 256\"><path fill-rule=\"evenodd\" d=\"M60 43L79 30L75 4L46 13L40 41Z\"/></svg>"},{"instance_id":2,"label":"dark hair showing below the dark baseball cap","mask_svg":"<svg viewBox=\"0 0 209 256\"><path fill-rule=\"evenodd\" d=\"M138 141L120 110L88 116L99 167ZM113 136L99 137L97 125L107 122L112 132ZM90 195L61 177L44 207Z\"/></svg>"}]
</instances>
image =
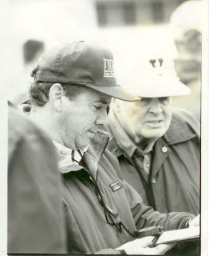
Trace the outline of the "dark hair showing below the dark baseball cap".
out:
<instances>
[{"instance_id":1,"label":"dark hair showing below the dark baseball cap","mask_svg":"<svg viewBox=\"0 0 209 256\"><path fill-rule=\"evenodd\" d=\"M30 103L34 106L44 106L49 101L49 90L55 82L37 82L34 81L29 90ZM73 100L81 93L81 90L85 90L85 86L61 84L65 92L65 96Z\"/></svg>"}]
</instances>

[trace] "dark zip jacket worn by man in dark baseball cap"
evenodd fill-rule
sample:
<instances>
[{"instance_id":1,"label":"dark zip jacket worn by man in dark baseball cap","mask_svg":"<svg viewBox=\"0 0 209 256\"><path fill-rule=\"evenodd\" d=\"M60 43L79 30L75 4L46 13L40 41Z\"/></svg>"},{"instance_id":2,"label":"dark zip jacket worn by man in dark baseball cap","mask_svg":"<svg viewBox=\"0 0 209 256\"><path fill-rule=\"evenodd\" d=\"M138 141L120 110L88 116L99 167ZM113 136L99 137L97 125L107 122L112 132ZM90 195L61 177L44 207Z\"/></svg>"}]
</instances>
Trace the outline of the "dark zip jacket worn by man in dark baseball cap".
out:
<instances>
[{"instance_id":1,"label":"dark zip jacket worn by man in dark baseball cap","mask_svg":"<svg viewBox=\"0 0 209 256\"><path fill-rule=\"evenodd\" d=\"M145 206L124 182L117 159L104 150L107 142L108 133L99 130L80 165L61 168L69 254L116 254L113 249L132 240L142 227L174 230L193 218L187 213L160 214Z\"/></svg>"}]
</instances>

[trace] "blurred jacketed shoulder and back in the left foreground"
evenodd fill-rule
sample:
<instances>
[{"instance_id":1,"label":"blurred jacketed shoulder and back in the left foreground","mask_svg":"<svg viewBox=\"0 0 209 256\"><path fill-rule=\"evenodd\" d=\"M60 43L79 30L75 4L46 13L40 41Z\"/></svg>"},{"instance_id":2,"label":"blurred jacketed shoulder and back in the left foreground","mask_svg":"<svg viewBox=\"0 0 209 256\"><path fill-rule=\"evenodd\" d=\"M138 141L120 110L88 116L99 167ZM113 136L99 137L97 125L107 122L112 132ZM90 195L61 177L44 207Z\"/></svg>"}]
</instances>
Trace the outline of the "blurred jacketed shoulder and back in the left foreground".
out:
<instances>
[{"instance_id":1,"label":"blurred jacketed shoulder and back in the left foreground","mask_svg":"<svg viewBox=\"0 0 209 256\"><path fill-rule=\"evenodd\" d=\"M60 177L53 143L9 109L8 254L65 254Z\"/></svg>"}]
</instances>

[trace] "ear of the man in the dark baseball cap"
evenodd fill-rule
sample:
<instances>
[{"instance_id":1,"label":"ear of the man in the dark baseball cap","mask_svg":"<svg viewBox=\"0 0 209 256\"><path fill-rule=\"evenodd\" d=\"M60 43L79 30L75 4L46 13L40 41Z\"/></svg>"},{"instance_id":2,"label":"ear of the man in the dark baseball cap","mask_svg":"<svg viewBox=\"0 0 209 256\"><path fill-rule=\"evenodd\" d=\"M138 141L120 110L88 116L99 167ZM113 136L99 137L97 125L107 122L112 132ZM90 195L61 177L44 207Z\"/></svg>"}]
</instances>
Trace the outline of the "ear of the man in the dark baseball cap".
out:
<instances>
[{"instance_id":1,"label":"ear of the man in the dark baseball cap","mask_svg":"<svg viewBox=\"0 0 209 256\"><path fill-rule=\"evenodd\" d=\"M64 90L60 83L54 83L49 90L49 102L56 112L61 112L62 109L62 96L64 95Z\"/></svg>"}]
</instances>

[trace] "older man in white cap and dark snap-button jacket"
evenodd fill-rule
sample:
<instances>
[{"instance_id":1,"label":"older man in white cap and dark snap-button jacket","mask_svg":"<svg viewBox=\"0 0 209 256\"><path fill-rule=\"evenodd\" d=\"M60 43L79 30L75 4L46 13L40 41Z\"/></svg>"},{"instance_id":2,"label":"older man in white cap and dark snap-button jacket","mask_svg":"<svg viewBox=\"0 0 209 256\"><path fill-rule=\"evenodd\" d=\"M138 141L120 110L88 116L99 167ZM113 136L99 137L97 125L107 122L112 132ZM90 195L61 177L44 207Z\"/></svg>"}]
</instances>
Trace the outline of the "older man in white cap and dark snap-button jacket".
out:
<instances>
[{"instance_id":1,"label":"older man in white cap and dark snap-button jacket","mask_svg":"<svg viewBox=\"0 0 209 256\"><path fill-rule=\"evenodd\" d=\"M108 149L145 204L160 212L197 214L199 122L172 108L172 96L190 94L190 89L163 58L148 59L147 65L143 74L134 70L128 75L129 89L140 101L112 101L108 129L113 138Z\"/></svg>"}]
</instances>

